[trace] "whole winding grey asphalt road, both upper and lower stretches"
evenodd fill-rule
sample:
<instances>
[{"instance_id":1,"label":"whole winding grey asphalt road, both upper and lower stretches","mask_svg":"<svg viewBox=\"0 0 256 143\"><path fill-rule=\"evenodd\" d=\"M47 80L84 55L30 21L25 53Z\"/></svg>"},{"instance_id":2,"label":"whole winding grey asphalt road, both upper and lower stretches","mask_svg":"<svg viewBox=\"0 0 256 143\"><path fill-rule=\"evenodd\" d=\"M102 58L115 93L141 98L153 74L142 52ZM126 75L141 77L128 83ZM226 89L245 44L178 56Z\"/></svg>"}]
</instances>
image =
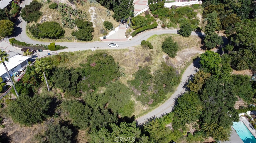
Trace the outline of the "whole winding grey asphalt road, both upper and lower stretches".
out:
<instances>
[{"instance_id":1,"label":"whole winding grey asphalt road, both upper and lower stretches","mask_svg":"<svg viewBox=\"0 0 256 143\"><path fill-rule=\"evenodd\" d=\"M30 2L31 1L24 1L21 4L21 7L28 5ZM51 42L35 41L35 40L30 39L26 34L27 22L25 22L21 17L18 18L16 24L17 25L15 28L15 34L14 34L15 36L10 37L10 38L15 38L19 41L30 43L30 44L49 45L51 43ZM146 40L147 38L149 38L150 36L155 35L155 34L157 34L157 35L159 35L159 34L177 34L177 30L164 29L164 30L145 31L143 33L136 35L129 41L115 42L116 44L119 45L118 48L109 48L109 47L107 47L108 43L106 43L106 42L56 42L56 45L68 47L68 49L59 50L58 52L86 50L86 49L92 49L94 47L95 48L99 47L100 49L123 49L123 48L129 48L129 47L139 45L142 40ZM191 35L201 37L201 36L204 36L204 33L192 32ZM169 113L172 111L174 99L176 97L178 97L180 93L185 92L185 89L183 88L184 83L186 82L186 80L188 79L188 77L190 75L196 73L196 70L198 70L198 68L197 68L197 65L199 64L198 62L199 62L199 59L195 60L194 63L192 63L188 66L188 68L185 70L184 74L182 75L182 80L181 80L180 84L178 85L174 94L169 99L167 99L167 101L165 103L158 106L153 111L147 113L144 116L137 118L136 121L138 122L138 124L142 124L147 118L150 118L153 116L160 117L162 114Z\"/></svg>"}]
</instances>

